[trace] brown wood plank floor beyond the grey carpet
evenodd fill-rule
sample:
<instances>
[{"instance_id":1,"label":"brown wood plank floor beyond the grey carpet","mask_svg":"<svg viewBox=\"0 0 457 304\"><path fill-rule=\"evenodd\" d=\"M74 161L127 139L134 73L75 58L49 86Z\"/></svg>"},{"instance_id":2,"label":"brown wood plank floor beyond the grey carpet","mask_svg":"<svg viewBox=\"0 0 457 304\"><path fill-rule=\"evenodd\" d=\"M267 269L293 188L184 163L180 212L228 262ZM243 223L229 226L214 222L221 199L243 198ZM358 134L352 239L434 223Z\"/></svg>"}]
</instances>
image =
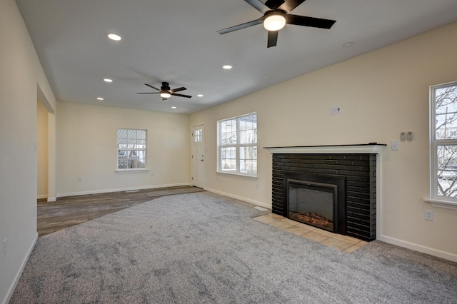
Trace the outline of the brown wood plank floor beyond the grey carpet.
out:
<instances>
[{"instance_id":1,"label":"brown wood plank floor beyond the grey carpet","mask_svg":"<svg viewBox=\"0 0 457 304\"><path fill-rule=\"evenodd\" d=\"M41 237L160 197L151 198L146 196L146 193L185 188L189 188L189 186L69 196L57 198L55 202L51 203L39 200L37 204L38 235Z\"/></svg>"}]
</instances>

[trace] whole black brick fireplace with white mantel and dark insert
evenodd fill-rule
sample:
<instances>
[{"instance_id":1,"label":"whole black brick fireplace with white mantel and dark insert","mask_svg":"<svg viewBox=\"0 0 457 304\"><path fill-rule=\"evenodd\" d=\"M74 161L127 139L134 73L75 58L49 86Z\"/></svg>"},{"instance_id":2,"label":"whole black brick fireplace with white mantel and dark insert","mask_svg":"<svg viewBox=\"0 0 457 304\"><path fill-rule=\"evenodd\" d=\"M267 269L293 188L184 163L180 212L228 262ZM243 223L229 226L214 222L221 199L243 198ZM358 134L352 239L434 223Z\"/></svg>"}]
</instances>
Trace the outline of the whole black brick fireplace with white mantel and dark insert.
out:
<instances>
[{"instance_id":1,"label":"whole black brick fireplace with white mantel and dark insert","mask_svg":"<svg viewBox=\"0 0 457 304\"><path fill-rule=\"evenodd\" d=\"M321 196L333 192L333 232L353 236L361 240L376 239L376 203L379 196L377 185L378 174L376 167L380 164L380 156L386 144L368 143L360 145L339 146L289 146L266 147L273 154L272 160L272 212L286 218L289 214L288 196L293 194L288 190L288 179L293 188L298 188L299 196L309 192L308 186L303 187L304 181L324 185ZM303 175L304 178L303 178ZM306 176L307 175L307 176ZM323 180L321 178L342 178L340 181ZM298 182L297 182L298 181ZM290 182L290 181L289 181ZM343 183L343 185L341 185ZM306 183L305 183L306 184ZM310 183L311 185L311 183ZM334 185L338 185L337 190ZM312 188L312 187L311 187ZM313 189L316 190L316 189ZM337 195L336 192L337 191ZM344 193L344 194L343 194ZM338 196L337 206L335 197ZM343 196L343 198L340 198ZM301 198L300 198L301 199ZM327 203L329 204L329 203ZM301 208L301 207L300 207ZM305 218L307 211L298 209L295 213ZM295 216L297 217L297 216ZM293 218L297 221L296 218ZM306 216L305 221L311 221ZM315 219L318 222L319 218ZM320 219L320 223L325 223ZM303 221L303 220L299 220ZM314 224L314 223L313 223ZM316 226L316 225L313 225ZM331 227L320 227L331 230Z\"/></svg>"}]
</instances>

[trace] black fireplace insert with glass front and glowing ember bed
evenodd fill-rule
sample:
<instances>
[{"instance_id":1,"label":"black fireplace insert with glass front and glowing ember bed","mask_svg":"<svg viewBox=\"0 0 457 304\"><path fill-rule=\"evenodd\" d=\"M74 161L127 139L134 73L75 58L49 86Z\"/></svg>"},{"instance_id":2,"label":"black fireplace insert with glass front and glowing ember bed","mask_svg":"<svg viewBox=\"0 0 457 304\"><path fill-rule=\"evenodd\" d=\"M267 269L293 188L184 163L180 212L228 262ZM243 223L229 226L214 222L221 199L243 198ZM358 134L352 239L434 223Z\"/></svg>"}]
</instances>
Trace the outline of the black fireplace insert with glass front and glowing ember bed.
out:
<instances>
[{"instance_id":1,"label":"black fireplace insert with glass front and glowing ember bed","mask_svg":"<svg viewBox=\"0 0 457 304\"><path fill-rule=\"evenodd\" d=\"M346 234L346 181L343 176L285 173L286 217Z\"/></svg>"}]
</instances>

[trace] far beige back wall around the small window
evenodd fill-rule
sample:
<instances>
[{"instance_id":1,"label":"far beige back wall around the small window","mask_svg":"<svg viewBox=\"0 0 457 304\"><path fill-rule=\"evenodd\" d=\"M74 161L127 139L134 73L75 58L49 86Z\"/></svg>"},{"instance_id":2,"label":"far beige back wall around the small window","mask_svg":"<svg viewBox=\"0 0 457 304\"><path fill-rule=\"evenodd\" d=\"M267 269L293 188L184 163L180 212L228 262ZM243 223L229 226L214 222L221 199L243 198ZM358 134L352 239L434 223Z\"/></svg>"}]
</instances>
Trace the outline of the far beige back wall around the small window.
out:
<instances>
[{"instance_id":1,"label":"far beige back wall around the small window","mask_svg":"<svg viewBox=\"0 0 457 304\"><path fill-rule=\"evenodd\" d=\"M189 184L188 115L59 101L56 121L57 196ZM148 131L149 171L115 171L118 128Z\"/></svg>"}]
</instances>

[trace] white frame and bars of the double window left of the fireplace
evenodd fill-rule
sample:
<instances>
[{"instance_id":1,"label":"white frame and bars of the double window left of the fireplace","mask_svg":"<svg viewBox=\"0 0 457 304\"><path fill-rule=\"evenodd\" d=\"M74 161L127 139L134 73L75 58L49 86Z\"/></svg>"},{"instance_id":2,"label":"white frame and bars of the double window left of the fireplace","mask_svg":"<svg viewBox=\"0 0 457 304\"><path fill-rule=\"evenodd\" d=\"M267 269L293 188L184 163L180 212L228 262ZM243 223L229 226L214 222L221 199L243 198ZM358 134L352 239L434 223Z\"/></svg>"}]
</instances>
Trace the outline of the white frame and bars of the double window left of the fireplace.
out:
<instances>
[{"instance_id":1,"label":"white frame and bars of the double window left of the fireplace","mask_svg":"<svg viewBox=\"0 0 457 304\"><path fill-rule=\"evenodd\" d=\"M247 116L253 116L255 115L256 116L256 126L255 128L252 128L250 130L255 130L254 133L255 133L255 142L251 142L251 143L240 143L240 120L243 119L244 117L247 117ZM224 144L222 143L222 123L226 122L226 121L234 121L236 120L236 143L229 143L229 144ZM256 112L253 112L253 113L247 113L247 114L243 114L241 116L235 116L235 117L232 117L232 118L225 118L225 119L221 119L220 121L217 121L217 145L218 145L218 153L217 153L217 173L224 173L224 174L231 174L231 175L236 175L236 176L244 176L244 177L251 177L251 178L257 178L257 174L258 174L258 146L257 146L257 143L258 143L258 138L257 138L257 128L258 126L258 123L257 123L257 113ZM246 147L252 147L253 148L253 151L255 151L255 158L251 158L251 166L253 168L255 168L255 172L253 173L248 173L248 172L242 172L241 170L241 159L240 159L240 156L241 156L241 149L242 148L246 148ZM233 168L231 170L224 170L224 168L222 168L222 161L223 161L223 158L222 158L222 149L223 148L235 148L235 151L236 151L236 157L233 158L235 159L236 161L236 168ZM246 168L246 167L245 167Z\"/></svg>"}]
</instances>

